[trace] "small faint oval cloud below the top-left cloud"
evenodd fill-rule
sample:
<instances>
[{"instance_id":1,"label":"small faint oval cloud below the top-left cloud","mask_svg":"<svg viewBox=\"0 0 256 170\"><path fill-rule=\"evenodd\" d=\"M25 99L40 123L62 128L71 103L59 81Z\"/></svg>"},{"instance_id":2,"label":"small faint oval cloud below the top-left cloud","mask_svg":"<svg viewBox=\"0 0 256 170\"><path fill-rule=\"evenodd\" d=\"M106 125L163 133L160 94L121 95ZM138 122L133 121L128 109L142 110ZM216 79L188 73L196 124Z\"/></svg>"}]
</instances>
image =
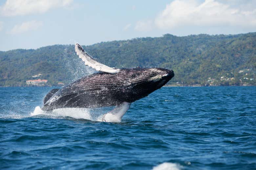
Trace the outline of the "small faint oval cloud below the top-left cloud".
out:
<instances>
[{"instance_id":1,"label":"small faint oval cloud below the top-left cloud","mask_svg":"<svg viewBox=\"0 0 256 170\"><path fill-rule=\"evenodd\" d=\"M21 24L15 25L10 32L10 34L20 34L27 31L36 30L43 25L42 21L28 21Z\"/></svg>"}]
</instances>

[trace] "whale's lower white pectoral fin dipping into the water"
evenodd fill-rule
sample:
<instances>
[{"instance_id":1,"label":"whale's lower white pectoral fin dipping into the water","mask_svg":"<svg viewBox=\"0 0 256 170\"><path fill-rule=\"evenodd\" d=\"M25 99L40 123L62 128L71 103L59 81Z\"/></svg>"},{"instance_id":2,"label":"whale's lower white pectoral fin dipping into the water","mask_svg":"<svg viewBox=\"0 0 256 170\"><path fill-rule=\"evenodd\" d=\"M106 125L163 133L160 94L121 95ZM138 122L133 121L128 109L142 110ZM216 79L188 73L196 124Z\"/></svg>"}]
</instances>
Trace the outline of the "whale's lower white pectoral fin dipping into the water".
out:
<instances>
[{"instance_id":1,"label":"whale's lower white pectoral fin dipping into the water","mask_svg":"<svg viewBox=\"0 0 256 170\"><path fill-rule=\"evenodd\" d=\"M130 108L131 103L129 102L122 102L121 105L117 106L115 109L111 110L110 112L106 113L102 117L102 121L105 122L120 122L123 115L127 112Z\"/></svg>"}]
</instances>

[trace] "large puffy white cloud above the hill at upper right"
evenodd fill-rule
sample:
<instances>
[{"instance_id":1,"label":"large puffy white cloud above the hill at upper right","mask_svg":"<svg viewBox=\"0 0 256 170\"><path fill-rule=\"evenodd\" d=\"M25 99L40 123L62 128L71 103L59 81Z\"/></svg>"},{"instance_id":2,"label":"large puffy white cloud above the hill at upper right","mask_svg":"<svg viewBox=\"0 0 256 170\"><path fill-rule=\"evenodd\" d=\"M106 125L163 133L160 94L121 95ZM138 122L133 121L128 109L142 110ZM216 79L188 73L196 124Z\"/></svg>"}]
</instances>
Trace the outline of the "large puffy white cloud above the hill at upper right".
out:
<instances>
[{"instance_id":1,"label":"large puffy white cloud above the hill at upper right","mask_svg":"<svg viewBox=\"0 0 256 170\"><path fill-rule=\"evenodd\" d=\"M239 5L240 4L240 5ZM182 26L256 26L256 6L252 1L224 3L216 0L174 0L155 19L160 29L177 28ZM242 5L241 5L242 4ZM249 7L249 4L254 7Z\"/></svg>"}]
</instances>

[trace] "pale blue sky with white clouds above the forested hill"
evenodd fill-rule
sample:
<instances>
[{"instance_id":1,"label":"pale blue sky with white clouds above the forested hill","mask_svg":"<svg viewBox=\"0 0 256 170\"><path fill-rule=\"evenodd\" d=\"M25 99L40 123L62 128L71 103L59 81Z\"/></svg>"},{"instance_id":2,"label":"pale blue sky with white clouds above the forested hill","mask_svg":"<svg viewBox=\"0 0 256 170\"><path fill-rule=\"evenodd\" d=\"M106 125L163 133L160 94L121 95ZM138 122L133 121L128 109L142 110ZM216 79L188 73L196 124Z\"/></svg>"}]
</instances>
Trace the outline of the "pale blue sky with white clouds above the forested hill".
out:
<instances>
[{"instance_id":1,"label":"pale blue sky with white clouds above the forested hill","mask_svg":"<svg viewBox=\"0 0 256 170\"><path fill-rule=\"evenodd\" d=\"M256 32L256 0L0 0L0 51Z\"/></svg>"}]
</instances>

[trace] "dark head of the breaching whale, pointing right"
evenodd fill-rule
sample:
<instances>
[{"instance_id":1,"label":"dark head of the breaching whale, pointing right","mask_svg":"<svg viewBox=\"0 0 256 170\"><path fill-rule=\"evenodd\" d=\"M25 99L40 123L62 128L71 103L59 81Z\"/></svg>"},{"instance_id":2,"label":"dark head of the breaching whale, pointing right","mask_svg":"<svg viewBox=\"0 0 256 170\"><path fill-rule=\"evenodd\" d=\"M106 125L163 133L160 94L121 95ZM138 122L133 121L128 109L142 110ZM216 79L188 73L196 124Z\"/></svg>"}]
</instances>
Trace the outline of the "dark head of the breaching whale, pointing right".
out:
<instances>
[{"instance_id":1,"label":"dark head of the breaching whale, pointing right","mask_svg":"<svg viewBox=\"0 0 256 170\"><path fill-rule=\"evenodd\" d=\"M127 83L132 87L133 96L130 98L138 100L165 85L174 77L174 71L162 68L135 68L127 70L126 77Z\"/></svg>"}]
</instances>

